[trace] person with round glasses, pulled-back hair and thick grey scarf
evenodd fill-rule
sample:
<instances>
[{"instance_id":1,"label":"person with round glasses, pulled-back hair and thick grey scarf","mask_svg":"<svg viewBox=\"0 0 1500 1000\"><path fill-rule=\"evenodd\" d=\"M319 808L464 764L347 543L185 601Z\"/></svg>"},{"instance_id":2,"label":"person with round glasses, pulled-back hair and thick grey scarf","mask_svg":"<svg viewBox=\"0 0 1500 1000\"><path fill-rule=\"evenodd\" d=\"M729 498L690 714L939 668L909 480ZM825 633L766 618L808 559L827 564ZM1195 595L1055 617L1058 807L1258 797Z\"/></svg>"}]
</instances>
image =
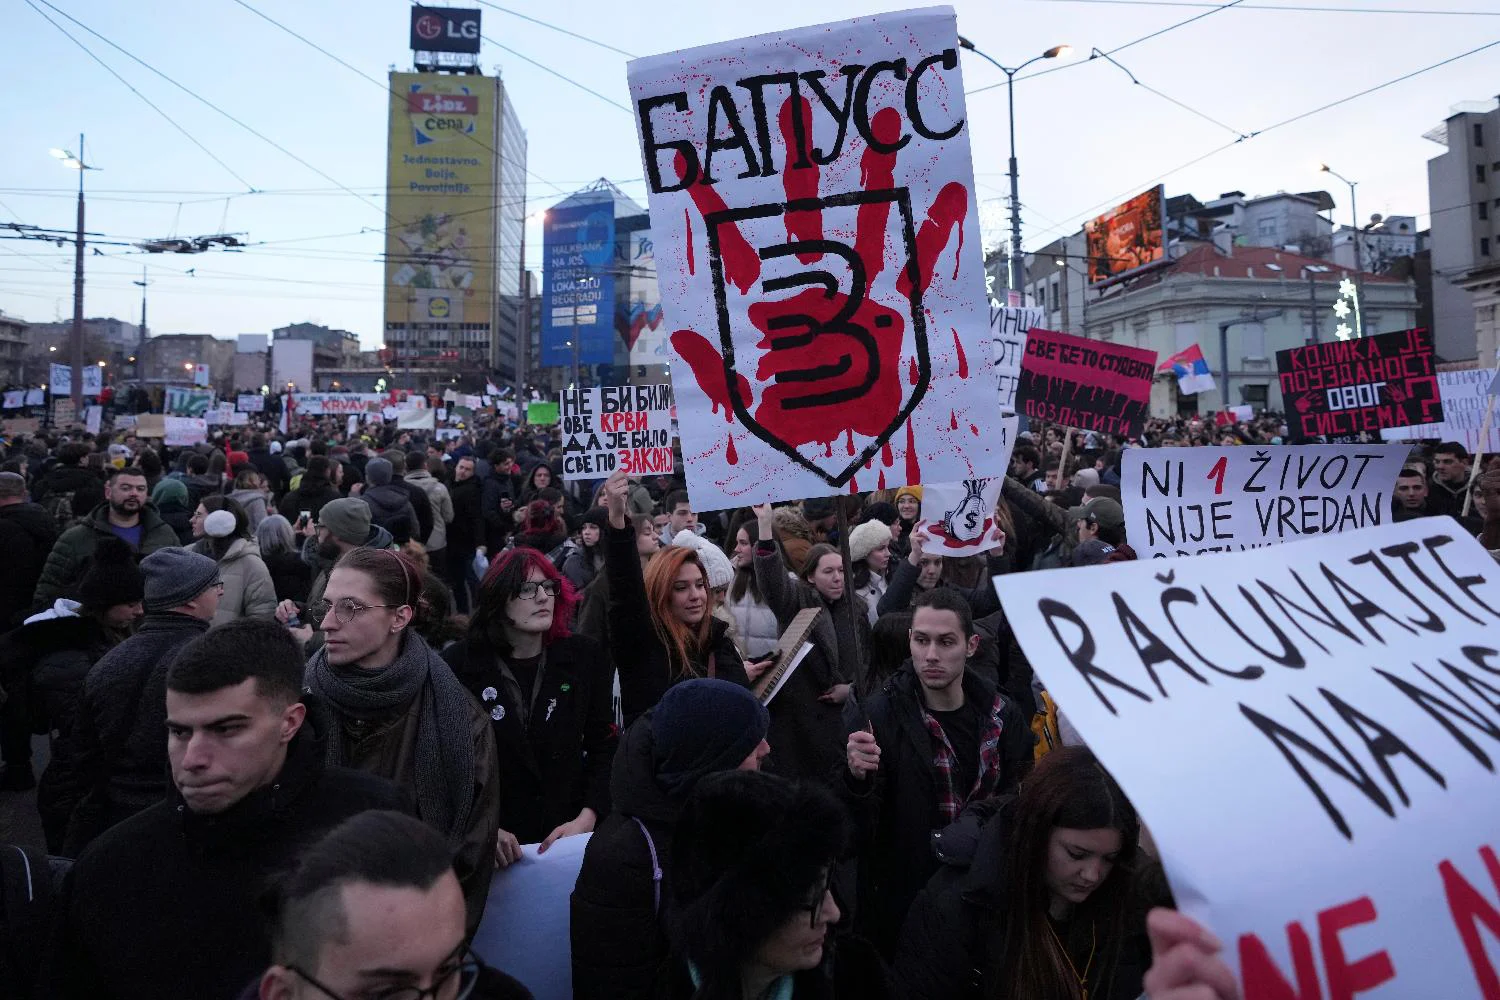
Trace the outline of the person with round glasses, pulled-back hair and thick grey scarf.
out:
<instances>
[{"instance_id":1,"label":"person with round glasses, pulled-back hair and thick grey scarf","mask_svg":"<svg viewBox=\"0 0 1500 1000\"><path fill-rule=\"evenodd\" d=\"M417 634L428 613L422 574L388 549L346 552L322 600L308 607L324 645L308 660L308 688L334 724L328 763L394 781L417 816L446 835L478 925L500 829L500 774L490 718Z\"/></svg>"}]
</instances>

